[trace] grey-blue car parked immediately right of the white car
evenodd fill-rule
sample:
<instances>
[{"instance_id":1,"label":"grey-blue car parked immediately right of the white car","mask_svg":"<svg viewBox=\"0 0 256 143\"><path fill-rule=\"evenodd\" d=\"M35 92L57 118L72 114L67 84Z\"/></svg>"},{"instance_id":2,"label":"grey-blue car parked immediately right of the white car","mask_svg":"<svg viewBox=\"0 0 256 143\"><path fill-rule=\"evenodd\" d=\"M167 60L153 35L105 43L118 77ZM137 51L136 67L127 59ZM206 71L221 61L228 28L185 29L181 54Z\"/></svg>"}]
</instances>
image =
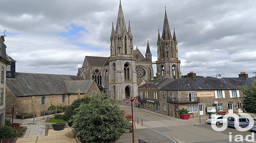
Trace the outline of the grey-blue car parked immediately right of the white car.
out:
<instances>
[{"instance_id":1,"label":"grey-blue car parked immediately right of the white car","mask_svg":"<svg viewBox=\"0 0 256 143\"><path fill-rule=\"evenodd\" d=\"M227 121L228 126L234 127L235 125L238 125L239 128L247 127L250 124L250 119L244 116L238 116L238 117L228 117Z\"/></svg>"}]
</instances>

